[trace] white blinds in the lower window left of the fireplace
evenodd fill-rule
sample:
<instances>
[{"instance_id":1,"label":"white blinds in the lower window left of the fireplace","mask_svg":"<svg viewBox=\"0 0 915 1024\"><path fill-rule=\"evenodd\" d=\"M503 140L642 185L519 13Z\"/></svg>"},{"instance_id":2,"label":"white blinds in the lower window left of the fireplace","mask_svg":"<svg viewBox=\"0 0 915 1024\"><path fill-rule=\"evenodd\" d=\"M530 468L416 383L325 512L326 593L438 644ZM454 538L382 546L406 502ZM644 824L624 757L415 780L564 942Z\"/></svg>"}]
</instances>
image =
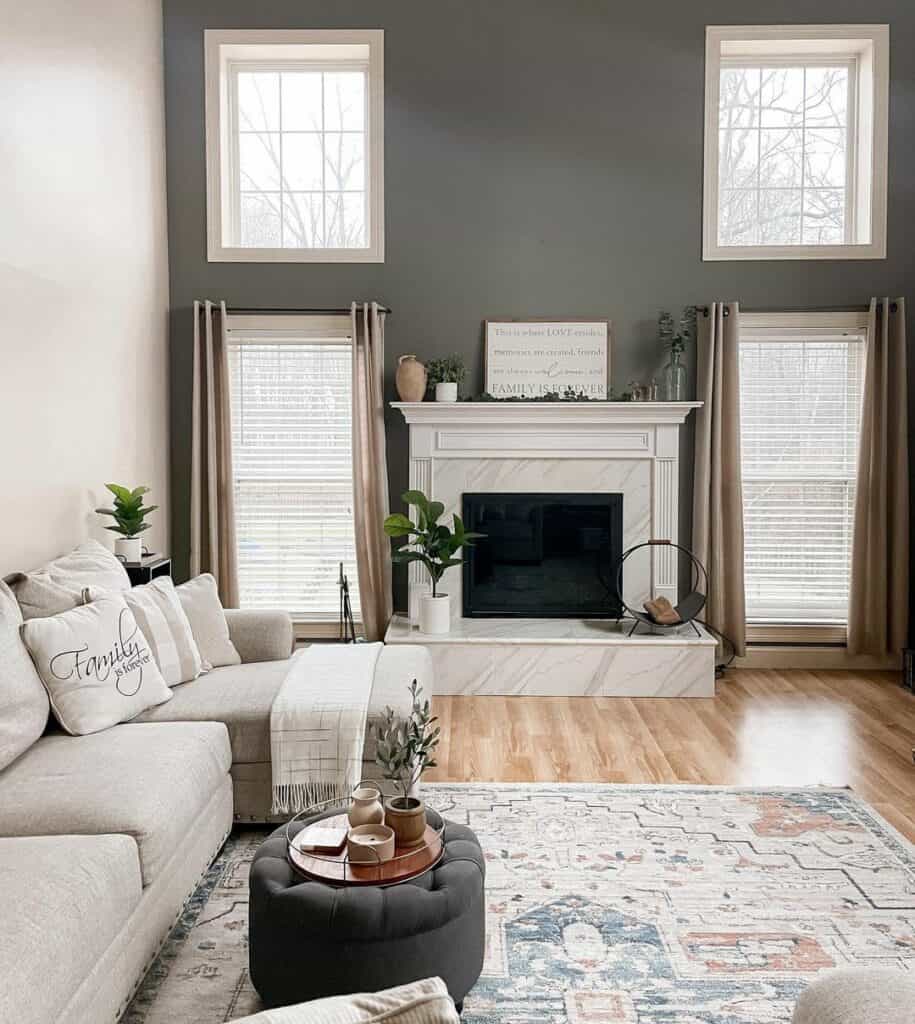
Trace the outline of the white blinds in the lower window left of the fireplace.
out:
<instances>
[{"instance_id":1,"label":"white blinds in the lower window left of the fireplace","mask_svg":"<svg viewBox=\"0 0 915 1024\"><path fill-rule=\"evenodd\" d=\"M336 621L343 562L358 618L349 329L348 317L229 318L244 608Z\"/></svg>"}]
</instances>

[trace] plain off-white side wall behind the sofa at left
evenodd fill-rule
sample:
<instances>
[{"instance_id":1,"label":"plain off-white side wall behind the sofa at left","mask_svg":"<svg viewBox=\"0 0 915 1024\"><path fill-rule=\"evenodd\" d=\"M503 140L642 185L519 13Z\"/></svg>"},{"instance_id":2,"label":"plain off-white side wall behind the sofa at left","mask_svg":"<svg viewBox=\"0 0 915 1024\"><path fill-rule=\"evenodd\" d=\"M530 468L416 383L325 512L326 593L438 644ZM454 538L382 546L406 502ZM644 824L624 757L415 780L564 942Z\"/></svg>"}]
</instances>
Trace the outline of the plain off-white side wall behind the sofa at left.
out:
<instances>
[{"instance_id":1,"label":"plain off-white side wall behind the sofa at left","mask_svg":"<svg viewBox=\"0 0 915 1024\"><path fill-rule=\"evenodd\" d=\"M167 550L167 307L160 0L0 0L0 574L110 480Z\"/></svg>"}]
</instances>

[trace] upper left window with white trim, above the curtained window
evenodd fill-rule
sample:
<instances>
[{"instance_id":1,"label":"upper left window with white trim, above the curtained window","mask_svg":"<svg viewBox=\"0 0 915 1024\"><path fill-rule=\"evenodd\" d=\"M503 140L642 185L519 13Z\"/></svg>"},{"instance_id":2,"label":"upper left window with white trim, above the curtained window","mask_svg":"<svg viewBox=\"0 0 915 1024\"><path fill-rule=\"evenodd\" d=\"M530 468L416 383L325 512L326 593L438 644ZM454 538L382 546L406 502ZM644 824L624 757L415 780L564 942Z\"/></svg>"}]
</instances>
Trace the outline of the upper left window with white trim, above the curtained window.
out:
<instances>
[{"instance_id":1,"label":"upper left window with white trim, above the curtained window","mask_svg":"<svg viewBox=\"0 0 915 1024\"><path fill-rule=\"evenodd\" d=\"M208 30L210 260L384 259L384 33Z\"/></svg>"}]
</instances>

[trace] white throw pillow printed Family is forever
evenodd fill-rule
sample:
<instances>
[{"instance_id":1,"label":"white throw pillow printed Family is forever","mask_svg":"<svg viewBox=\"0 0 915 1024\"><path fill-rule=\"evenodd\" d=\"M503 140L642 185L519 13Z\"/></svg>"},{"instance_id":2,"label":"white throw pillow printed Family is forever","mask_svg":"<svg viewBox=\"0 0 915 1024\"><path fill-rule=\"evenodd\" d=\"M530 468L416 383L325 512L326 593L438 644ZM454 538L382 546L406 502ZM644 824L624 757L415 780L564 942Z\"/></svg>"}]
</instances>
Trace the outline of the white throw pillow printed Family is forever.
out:
<instances>
[{"instance_id":1,"label":"white throw pillow printed Family is forever","mask_svg":"<svg viewBox=\"0 0 915 1024\"><path fill-rule=\"evenodd\" d=\"M124 598L100 597L48 618L23 624L51 708L72 735L129 722L171 699L149 645Z\"/></svg>"}]
</instances>

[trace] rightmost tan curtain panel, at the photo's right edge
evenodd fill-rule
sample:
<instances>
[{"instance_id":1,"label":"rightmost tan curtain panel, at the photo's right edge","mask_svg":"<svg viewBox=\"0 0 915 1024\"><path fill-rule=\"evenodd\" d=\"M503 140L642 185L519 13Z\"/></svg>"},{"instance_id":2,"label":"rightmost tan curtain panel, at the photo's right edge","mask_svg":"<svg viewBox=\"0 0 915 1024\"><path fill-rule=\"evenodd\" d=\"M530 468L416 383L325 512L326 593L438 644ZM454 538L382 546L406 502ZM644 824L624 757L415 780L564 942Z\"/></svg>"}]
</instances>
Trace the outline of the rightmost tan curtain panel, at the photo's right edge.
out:
<instances>
[{"instance_id":1,"label":"rightmost tan curtain panel, at the photo's right edge","mask_svg":"<svg viewBox=\"0 0 915 1024\"><path fill-rule=\"evenodd\" d=\"M855 498L848 650L899 654L909 622L906 305L871 299Z\"/></svg>"}]
</instances>

